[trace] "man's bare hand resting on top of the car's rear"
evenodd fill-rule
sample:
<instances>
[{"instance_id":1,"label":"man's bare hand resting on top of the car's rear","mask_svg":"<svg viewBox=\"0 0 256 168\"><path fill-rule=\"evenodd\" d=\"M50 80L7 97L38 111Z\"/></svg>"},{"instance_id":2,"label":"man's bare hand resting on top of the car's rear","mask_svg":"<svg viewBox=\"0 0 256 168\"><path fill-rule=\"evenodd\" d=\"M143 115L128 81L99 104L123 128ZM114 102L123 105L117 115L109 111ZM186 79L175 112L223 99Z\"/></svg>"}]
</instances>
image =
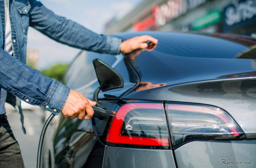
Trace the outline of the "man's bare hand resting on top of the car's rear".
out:
<instances>
[{"instance_id":1,"label":"man's bare hand resting on top of the car's rear","mask_svg":"<svg viewBox=\"0 0 256 168\"><path fill-rule=\"evenodd\" d=\"M149 44L147 42L150 42ZM139 36L133 37L121 43L120 52L129 53L136 49L142 49L150 47L154 49L157 46L158 40L151 36Z\"/></svg>"}]
</instances>

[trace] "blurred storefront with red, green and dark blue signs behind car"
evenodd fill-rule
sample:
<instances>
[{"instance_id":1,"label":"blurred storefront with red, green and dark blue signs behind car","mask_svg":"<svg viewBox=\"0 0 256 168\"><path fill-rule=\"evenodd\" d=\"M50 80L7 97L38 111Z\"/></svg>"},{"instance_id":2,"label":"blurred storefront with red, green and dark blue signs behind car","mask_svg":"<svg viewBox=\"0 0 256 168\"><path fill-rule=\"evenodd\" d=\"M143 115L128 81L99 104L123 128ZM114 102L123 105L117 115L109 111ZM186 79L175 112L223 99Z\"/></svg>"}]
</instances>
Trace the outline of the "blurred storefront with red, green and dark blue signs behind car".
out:
<instances>
[{"instance_id":1,"label":"blurred storefront with red, green and dark blue signs behind car","mask_svg":"<svg viewBox=\"0 0 256 168\"><path fill-rule=\"evenodd\" d=\"M145 0L105 28L106 34L158 30L254 35L256 0Z\"/></svg>"}]
</instances>

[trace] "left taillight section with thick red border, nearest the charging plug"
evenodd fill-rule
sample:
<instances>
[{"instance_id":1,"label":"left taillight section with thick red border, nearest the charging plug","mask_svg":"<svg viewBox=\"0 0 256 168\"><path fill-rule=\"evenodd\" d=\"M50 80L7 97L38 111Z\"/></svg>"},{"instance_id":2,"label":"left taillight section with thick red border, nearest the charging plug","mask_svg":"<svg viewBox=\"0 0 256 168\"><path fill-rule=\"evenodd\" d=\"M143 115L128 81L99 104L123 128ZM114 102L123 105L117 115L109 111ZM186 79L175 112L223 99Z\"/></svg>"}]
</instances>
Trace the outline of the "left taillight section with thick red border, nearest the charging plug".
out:
<instances>
[{"instance_id":1,"label":"left taillight section with thick red border, nearest the charging plug","mask_svg":"<svg viewBox=\"0 0 256 168\"><path fill-rule=\"evenodd\" d=\"M107 135L115 144L169 147L163 104L129 103L116 112Z\"/></svg>"}]
</instances>

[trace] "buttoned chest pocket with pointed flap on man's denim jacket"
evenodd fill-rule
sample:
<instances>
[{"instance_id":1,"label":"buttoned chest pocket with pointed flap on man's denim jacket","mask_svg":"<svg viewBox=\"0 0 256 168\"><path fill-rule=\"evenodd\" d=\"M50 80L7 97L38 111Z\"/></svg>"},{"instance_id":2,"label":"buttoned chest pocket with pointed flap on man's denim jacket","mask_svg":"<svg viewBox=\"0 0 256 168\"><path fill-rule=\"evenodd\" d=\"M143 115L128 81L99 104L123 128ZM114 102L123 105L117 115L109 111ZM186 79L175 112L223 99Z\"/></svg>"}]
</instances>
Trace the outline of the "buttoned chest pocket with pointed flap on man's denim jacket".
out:
<instances>
[{"instance_id":1,"label":"buttoned chest pocket with pointed flap on man's denim jacket","mask_svg":"<svg viewBox=\"0 0 256 168\"><path fill-rule=\"evenodd\" d=\"M17 7L19 13L20 13L20 20L22 25L22 30L24 34L28 33L28 26L29 26L29 13L31 5L29 1L24 2L23 4L19 5Z\"/></svg>"}]
</instances>

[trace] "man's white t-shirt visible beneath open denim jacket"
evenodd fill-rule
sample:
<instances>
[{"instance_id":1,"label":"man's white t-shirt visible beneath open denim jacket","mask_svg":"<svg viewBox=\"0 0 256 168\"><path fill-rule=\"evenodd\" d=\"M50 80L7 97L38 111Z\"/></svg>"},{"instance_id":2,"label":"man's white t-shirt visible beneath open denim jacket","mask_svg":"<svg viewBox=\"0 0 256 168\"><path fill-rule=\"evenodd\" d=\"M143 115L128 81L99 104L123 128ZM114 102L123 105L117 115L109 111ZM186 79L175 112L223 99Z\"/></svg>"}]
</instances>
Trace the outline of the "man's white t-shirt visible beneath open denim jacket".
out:
<instances>
[{"instance_id":1,"label":"man's white t-shirt visible beneath open denim jacket","mask_svg":"<svg viewBox=\"0 0 256 168\"><path fill-rule=\"evenodd\" d=\"M13 54L13 48L11 43L11 23L9 16L9 9L6 5L6 0L4 0L5 4L5 44L4 50L7 51L10 55ZM7 91L1 88L0 92L0 114L5 114L4 103L6 100Z\"/></svg>"}]
</instances>

